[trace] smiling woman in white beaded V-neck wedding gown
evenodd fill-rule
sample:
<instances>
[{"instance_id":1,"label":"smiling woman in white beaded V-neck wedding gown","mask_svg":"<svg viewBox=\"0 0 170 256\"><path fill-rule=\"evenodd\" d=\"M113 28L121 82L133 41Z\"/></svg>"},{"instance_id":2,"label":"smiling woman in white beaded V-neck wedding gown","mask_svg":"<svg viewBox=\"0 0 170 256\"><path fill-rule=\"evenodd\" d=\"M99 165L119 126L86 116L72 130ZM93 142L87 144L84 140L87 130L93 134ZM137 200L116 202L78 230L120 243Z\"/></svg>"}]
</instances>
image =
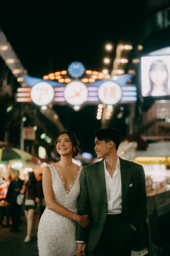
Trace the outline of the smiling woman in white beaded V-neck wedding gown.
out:
<instances>
[{"instance_id":1,"label":"smiling woman in white beaded V-neck wedding gown","mask_svg":"<svg viewBox=\"0 0 170 256\"><path fill-rule=\"evenodd\" d=\"M77 214L80 192L80 168L72 162L79 154L79 141L71 131L57 137L56 156L60 161L43 170L43 192L46 209L38 226L39 256L73 256L76 252L75 222L82 227L89 224L88 215Z\"/></svg>"}]
</instances>

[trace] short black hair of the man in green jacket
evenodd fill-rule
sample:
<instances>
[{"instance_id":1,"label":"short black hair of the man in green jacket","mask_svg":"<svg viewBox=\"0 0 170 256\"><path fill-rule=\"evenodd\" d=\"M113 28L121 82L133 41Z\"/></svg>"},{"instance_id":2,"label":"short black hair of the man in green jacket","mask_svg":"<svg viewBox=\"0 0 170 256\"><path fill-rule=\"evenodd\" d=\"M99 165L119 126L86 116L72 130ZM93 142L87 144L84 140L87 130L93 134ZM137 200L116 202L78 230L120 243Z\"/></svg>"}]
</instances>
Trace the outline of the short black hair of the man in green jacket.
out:
<instances>
[{"instance_id":1,"label":"short black hair of the man in green jacket","mask_svg":"<svg viewBox=\"0 0 170 256\"><path fill-rule=\"evenodd\" d=\"M99 130L95 131L94 134L99 140L104 140L105 143L112 140L115 144L116 150L118 149L120 138L118 131L115 128L100 128Z\"/></svg>"}]
</instances>

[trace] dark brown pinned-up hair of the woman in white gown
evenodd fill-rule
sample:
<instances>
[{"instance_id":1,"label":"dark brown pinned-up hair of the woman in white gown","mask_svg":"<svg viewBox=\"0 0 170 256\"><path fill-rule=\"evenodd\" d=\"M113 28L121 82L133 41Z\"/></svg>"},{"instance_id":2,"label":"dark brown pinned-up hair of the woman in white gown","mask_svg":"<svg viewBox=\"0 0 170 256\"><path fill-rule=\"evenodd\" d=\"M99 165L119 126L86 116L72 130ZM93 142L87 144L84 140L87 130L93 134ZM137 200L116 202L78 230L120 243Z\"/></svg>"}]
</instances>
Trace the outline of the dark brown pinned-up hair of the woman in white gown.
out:
<instances>
[{"instance_id":1,"label":"dark brown pinned-up hair of the woman in white gown","mask_svg":"<svg viewBox=\"0 0 170 256\"><path fill-rule=\"evenodd\" d=\"M56 142L55 142L55 145L57 146L57 141L58 141L58 138L60 137L61 134L67 134L71 143L72 143L72 151L73 151L73 154L72 156L73 157L76 157L76 156L79 156L80 155L80 148L79 148L79 141L76 137L76 135L72 132L72 131L61 131L60 134L58 135L57 139L56 139ZM75 148L75 149L73 149ZM60 154L58 154L57 152L57 148L55 147L54 149L54 153L55 153L55 157L56 156L60 156Z\"/></svg>"}]
</instances>

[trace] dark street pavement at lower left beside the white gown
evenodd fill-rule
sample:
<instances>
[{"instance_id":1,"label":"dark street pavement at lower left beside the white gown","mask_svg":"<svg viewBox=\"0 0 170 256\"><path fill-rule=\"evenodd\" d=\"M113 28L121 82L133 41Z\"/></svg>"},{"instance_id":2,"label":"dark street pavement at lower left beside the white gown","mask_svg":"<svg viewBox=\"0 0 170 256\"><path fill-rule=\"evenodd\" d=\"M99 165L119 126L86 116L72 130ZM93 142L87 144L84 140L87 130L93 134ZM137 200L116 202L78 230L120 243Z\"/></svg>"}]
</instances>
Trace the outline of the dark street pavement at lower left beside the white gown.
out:
<instances>
[{"instance_id":1,"label":"dark street pavement at lower left beside the white gown","mask_svg":"<svg viewBox=\"0 0 170 256\"><path fill-rule=\"evenodd\" d=\"M38 256L37 229L39 215L34 215L33 236L29 243L24 243L26 219L21 217L20 231L10 232L11 227L0 226L0 256Z\"/></svg>"}]
</instances>

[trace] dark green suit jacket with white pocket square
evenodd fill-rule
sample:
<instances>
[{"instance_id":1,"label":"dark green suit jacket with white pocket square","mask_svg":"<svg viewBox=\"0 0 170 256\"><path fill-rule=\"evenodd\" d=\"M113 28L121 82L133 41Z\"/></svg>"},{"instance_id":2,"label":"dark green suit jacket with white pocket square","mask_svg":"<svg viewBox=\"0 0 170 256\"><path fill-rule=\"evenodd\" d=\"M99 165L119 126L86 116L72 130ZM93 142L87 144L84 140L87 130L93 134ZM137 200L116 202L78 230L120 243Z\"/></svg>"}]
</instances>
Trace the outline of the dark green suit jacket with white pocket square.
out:
<instances>
[{"instance_id":1,"label":"dark green suit jacket with white pocket square","mask_svg":"<svg viewBox=\"0 0 170 256\"><path fill-rule=\"evenodd\" d=\"M122 213L136 230L146 212L145 173L141 165L120 158ZM133 186L129 185L132 183ZM103 160L85 166L80 175L78 214L90 215L90 225L76 224L76 241L87 242L88 251L98 244L107 217L107 194Z\"/></svg>"}]
</instances>

